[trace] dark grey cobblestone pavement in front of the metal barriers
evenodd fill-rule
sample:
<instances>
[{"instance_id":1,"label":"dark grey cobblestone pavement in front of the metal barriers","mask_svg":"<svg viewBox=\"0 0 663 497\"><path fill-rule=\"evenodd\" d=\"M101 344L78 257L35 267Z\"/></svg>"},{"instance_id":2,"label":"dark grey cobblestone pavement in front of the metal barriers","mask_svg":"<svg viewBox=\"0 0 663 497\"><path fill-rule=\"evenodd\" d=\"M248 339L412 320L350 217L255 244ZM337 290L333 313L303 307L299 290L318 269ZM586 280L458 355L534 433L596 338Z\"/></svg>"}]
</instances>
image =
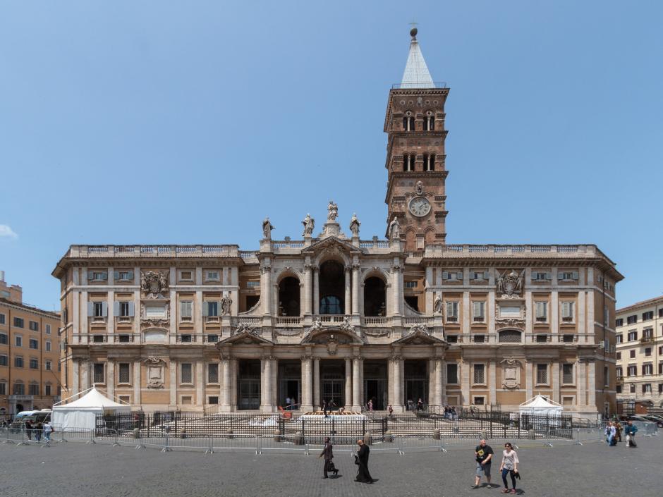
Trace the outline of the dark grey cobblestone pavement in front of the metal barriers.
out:
<instances>
[{"instance_id":1,"label":"dark grey cobblestone pavement in front of the metal barriers","mask_svg":"<svg viewBox=\"0 0 663 497\"><path fill-rule=\"evenodd\" d=\"M501 447L495 446L501 453ZM521 495L532 497L661 496L663 436L638 448L604 443L521 448ZM499 454L498 454L499 456ZM340 474L322 479L315 455L170 452L59 443L51 448L0 444L0 489L13 496L487 496L501 486L470 489L472 448L449 453L375 454L372 485L355 483L349 453L334 459ZM493 465L493 483L499 460Z\"/></svg>"}]
</instances>

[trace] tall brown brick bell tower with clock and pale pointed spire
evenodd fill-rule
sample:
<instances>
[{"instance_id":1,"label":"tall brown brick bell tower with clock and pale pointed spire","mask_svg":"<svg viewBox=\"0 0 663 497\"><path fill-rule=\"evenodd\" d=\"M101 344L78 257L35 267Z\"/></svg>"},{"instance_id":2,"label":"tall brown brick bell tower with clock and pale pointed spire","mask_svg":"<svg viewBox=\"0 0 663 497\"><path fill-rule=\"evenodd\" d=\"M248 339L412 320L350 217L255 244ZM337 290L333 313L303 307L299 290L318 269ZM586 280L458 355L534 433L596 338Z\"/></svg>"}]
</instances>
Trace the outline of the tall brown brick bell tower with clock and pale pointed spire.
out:
<instances>
[{"instance_id":1,"label":"tall brown brick bell tower with clock and pale pointed spire","mask_svg":"<svg viewBox=\"0 0 663 497\"><path fill-rule=\"evenodd\" d=\"M406 250L446 238L444 181L444 102L449 88L433 82L410 30L410 52L403 80L389 91L384 132L387 142L387 226L399 220Z\"/></svg>"}]
</instances>

